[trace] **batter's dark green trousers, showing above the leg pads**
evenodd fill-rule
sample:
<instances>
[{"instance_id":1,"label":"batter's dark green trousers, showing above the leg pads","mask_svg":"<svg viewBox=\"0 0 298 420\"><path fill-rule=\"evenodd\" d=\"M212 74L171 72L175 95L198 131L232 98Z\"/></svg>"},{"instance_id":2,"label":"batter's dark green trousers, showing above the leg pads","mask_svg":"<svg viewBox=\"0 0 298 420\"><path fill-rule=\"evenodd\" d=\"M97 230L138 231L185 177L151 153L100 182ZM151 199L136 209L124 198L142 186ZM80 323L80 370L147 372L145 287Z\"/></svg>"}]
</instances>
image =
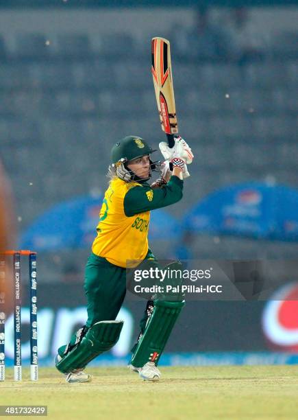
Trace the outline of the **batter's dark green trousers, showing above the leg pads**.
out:
<instances>
[{"instance_id":1,"label":"batter's dark green trousers, showing above the leg pads","mask_svg":"<svg viewBox=\"0 0 298 420\"><path fill-rule=\"evenodd\" d=\"M151 250L148 251L145 259L150 259L153 264L157 264ZM125 298L126 269L114 266L105 258L92 253L86 264L84 290L87 297L87 329L99 321L115 320ZM151 310L153 309L153 302L149 301L144 316L140 320L140 334L145 331L149 305L152 307ZM77 333L71 337L68 349L75 345L76 338ZM135 347L136 345L133 349ZM66 345L63 345L58 349L58 353L62 356L65 349Z\"/></svg>"}]
</instances>

